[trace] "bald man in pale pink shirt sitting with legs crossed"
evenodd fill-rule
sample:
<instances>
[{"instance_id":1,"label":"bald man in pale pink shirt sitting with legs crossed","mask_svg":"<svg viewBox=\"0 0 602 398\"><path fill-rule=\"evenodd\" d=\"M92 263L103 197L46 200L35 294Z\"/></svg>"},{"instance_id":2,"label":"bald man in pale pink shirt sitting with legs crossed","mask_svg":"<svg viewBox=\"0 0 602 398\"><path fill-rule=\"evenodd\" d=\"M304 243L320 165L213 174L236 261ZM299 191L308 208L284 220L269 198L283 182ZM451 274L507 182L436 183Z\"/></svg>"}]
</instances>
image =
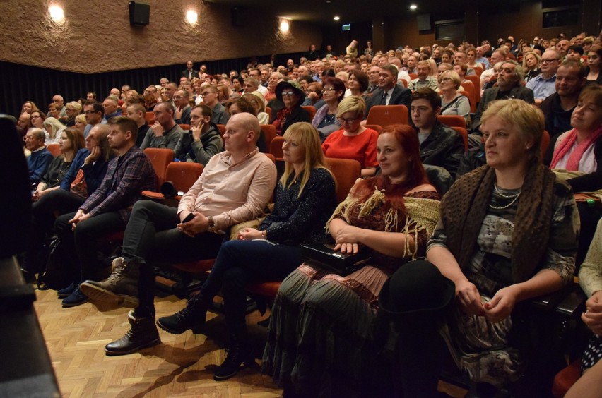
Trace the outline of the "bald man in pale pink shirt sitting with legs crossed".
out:
<instances>
[{"instance_id":1,"label":"bald man in pale pink shirt sitting with legs crossed","mask_svg":"<svg viewBox=\"0 0 602 398\"><path fill-rule=\"evenodd\" d=\"M153 304L155 265L215 258L225 229L261 215L276 186L276 167L257 149L258 131L255 116L235 114L226 125L225 152L211 158L177 209L151 200L134 205L114 272L105 281L82 284L97 302L136 306L128 316L131 330L105 346L107 355L160 343Z\"/></svg>"}]
</instances>

